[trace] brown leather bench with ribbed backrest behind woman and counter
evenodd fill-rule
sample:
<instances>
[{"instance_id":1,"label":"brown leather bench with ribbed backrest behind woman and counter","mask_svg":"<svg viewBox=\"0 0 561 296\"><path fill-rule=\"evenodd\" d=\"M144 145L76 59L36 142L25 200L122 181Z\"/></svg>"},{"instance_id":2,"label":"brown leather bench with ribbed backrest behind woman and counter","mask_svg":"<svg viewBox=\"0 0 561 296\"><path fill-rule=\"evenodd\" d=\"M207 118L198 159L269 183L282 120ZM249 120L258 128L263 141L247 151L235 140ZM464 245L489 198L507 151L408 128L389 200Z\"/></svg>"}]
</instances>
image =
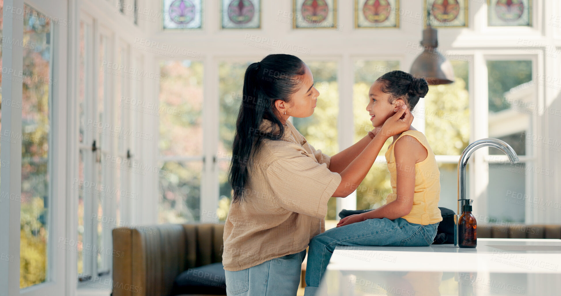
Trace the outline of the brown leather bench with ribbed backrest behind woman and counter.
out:
<instances>
[{"instance_id":1,"label":"brown leather bench with ribbed backrest behind woman and counter","mask_svg":"<svg viewBox=\"0 0 561 296\"><path fill-rule=\"evenodd\" d=\"M223 233L224 225L220 224L113 229L114 252L123 254L122 258L113 257L113 296L169 295L173 280L181 272L222 262ZM477 236L561 239L561 225L477 225Z\"/></svg>"}]
</instances>

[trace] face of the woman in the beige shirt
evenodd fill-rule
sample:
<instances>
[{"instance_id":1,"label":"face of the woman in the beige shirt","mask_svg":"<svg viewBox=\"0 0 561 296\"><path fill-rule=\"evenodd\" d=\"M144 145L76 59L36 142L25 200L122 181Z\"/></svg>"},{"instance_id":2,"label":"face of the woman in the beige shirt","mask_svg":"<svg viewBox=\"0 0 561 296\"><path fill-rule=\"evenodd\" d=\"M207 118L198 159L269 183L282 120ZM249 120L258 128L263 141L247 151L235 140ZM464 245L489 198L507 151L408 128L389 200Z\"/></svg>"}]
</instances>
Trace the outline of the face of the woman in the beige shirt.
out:
<instances>
[{"instance_id":1,"label":"face of the woman in the beige shirt","mask_svg":"<svg viewBox=\"0 0 561 296\"><path fill-rule=\"evenodd\" d=\"M289 116L308 117L314 113L319 92L314 87L314 76L310 68L305 65L305 69L304 75L297 77L300 80L300 84L298 85L297 92L291 95L289 102L277 100L277 108L284 120L287 120ZM286 110L286 115L283 114L282 110Z\"/></svg>"}]
</instances>

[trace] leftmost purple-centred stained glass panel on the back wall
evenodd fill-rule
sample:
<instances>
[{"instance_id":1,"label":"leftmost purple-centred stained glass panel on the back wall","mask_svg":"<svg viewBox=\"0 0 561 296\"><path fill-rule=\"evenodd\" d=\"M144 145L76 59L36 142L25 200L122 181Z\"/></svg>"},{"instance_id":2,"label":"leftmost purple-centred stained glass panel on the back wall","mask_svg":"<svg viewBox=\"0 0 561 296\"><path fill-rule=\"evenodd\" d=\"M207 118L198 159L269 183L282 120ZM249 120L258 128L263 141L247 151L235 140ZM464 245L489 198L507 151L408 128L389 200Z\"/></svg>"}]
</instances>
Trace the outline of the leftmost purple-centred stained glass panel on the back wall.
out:
<instances>
[{"instance_id":1,"label":"leftmost purple-centred stained glass panel on the back wall","mask_svg":"<svg viewBox=\"0 0 561 296\"><path fill-rule=\"evenodd\" d=\"M164 29L200 29L202 11L201 0L164 0Z\"/></svg>"}]
</instances>

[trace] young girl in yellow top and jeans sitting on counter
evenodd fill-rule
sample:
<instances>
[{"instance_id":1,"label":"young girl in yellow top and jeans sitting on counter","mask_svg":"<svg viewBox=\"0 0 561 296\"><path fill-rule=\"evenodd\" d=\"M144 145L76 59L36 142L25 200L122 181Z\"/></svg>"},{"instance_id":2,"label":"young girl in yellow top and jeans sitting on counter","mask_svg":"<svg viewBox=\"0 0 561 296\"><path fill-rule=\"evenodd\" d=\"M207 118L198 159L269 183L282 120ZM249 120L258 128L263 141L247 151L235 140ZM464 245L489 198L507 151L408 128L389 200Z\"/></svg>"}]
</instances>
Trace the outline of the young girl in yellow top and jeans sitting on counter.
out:
<instances>
[{"instance_id":1,"label":"young girl in yellow top and jeans sitting on counter","mask_svg":"<svg viewBox=\"0 0 561 296\"><path fill-rule=\"evenodd\" d=\"M413 110L428 91L425 79L413 78L406 72L382 75L370 87L370 102L366 106L372 125L382 126L403 104ZM442 221L438 208L440 172L425 135L413 127L394 135L385 157L392 185L386 204L345 217L334 229L312 238L306 266L306 296L315 294L337 246L421 247L433 243L438 222Z\"/></svg>"}]
</instances>

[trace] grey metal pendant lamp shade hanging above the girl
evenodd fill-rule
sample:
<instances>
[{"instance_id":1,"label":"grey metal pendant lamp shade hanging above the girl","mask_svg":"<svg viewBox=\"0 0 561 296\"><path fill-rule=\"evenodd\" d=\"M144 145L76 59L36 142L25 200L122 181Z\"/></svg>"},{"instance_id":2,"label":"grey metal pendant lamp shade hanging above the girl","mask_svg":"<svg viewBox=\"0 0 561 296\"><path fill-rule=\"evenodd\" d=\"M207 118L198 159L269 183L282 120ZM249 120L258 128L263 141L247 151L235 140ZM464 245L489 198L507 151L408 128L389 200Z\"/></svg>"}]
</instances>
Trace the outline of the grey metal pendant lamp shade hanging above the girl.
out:
<instances>
[{"instance_id":1,"label":"grey metal pendant lamp shade hanging above the girl","mask_svg":"<svg viewBox=\"0 0 561 296\"><path fill-rule=\"evenodd\" d=\"M424 77L430 85L453 83L452 64L436 49L438 47L436 29L427 26L422 31L421 45L425 49L411 65L411 75Z\"/></svg>"}]
</instances>

